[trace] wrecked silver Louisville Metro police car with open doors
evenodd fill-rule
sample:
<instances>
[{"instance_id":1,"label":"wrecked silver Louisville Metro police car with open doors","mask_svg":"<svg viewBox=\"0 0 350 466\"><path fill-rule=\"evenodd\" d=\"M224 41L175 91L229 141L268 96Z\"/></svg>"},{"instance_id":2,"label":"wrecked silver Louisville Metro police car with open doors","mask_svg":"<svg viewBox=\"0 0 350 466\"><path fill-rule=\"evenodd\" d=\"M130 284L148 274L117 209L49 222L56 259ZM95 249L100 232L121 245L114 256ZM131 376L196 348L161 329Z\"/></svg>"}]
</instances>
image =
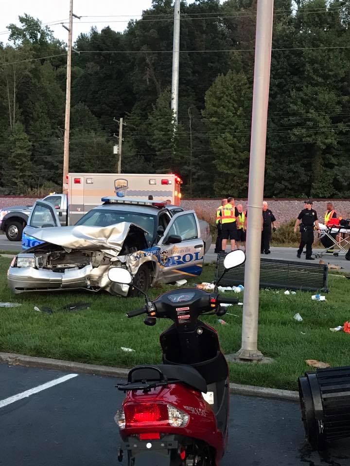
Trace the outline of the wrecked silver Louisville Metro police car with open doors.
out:
<instances>
[{"instance_id":1,"label":"wrecked silver Louisville Metro police car with open doors","mask_svg":"<svg viewBox=\"0 0 350 466\"><path fill-rule=\"evenodd\" d=\"M211 236L194 211L154 200L102 201L69 227L59 226L52 204L36 201L23 235L28 249L7 273L10 288L15 293L104 289L128 296L137 290L110 282L111 267L128 268L142 291L201 274Z\"/></svg>"}]
</instances>

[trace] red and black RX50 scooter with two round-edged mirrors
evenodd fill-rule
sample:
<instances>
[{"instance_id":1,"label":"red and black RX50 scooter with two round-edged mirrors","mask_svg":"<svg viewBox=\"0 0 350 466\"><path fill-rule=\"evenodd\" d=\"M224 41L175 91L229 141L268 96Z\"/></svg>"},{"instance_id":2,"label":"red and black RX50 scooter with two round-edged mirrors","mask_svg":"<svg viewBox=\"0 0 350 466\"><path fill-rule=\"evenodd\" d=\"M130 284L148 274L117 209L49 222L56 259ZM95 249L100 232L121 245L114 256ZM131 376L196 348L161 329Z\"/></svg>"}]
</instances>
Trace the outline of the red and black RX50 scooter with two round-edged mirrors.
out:
<instances>
[{"instance_id":1,"label":"red and black RX50 scooter with two round-edged mirrors","mask_svg":"<svg viewBox=\"0 0 350 466\"><path fill-rule=\"evenodd\" d=\"M227 254L225 269L243 264L245 253ZM224 272L225 273L225 272ZM223 274L224 275L224 274ZM128 270L114 267L109 279L131 284ZM220 277L221 279L222 277ZM128 317L147 314L146 325L157 318L174 323L160 335L163 364L133 367L123 406L115 416L123 444L118 459L127 454L128 466L217 466L227 443L229 381L225 356L216 330L198 320L203 314L223 316L221 303L236 298L198 288L168 291Z\"/></svg>"}]
</instances>

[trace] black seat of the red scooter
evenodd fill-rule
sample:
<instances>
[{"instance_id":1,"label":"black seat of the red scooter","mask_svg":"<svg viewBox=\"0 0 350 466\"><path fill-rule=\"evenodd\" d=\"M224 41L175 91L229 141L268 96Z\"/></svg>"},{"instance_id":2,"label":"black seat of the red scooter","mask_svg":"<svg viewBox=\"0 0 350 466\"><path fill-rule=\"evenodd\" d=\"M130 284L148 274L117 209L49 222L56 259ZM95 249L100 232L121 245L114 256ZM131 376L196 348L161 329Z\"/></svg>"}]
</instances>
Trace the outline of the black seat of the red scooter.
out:
<instances>
[{"instance_id":1,"label":"black seat of the red scooter","mask_svg":"<svg viewBox=\"0 0 350 466\"><path fill-rule=\"evenodd\" d=\"M180 381L203 393L207 393L207 383L200 373L191 366L176 366L159 364L152 366L135 366L128 376L128 382L135 383L146 380L148 382Z\"/></svg>"}]
</instances>

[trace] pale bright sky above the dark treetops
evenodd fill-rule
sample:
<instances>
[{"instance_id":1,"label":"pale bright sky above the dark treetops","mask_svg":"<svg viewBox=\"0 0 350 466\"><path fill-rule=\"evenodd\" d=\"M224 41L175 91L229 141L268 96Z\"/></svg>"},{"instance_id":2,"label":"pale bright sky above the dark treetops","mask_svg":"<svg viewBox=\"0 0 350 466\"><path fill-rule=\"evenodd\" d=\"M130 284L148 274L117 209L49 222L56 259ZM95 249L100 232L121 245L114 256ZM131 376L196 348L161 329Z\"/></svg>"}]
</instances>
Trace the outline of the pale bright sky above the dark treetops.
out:
<instances>
[{"instance_id":1,"label":"pale bright sky above the dark treetops","mask_svg":"<svg viewBox=\"0 0 350 466\"><path fill-rule=\"evenodd\" d=\"M74 19L73 41L80 33L86 33L91 26L101 31L110 25L115 31L124 31L128 20L138 19L142 10L148 9L152 0L73 0L73 13L83 16ZM18 16L27 13L40 19L43 24L67 22L70 0L0 0L0 42L6 43L6 26L19 25ZM86 17L84 17L86 16ZM68 31L61 24L50 25L54 36L68 41Z\"/></svg>"}]
</instances>

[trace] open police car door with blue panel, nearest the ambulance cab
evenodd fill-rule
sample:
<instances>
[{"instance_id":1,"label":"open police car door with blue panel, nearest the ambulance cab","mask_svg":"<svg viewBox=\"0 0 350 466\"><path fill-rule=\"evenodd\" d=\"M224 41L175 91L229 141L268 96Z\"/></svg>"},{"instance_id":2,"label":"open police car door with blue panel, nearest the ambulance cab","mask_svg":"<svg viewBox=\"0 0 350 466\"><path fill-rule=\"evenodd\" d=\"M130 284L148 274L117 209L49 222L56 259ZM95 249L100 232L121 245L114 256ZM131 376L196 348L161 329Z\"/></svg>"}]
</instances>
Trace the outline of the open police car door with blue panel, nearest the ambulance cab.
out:
<instances>
[{"instance_id":1,"label":"open police car door with blue panel, nearest the ambulance cab","mask_svg":"<svg viewBox=\"0 0 350 466\"><path fill-rule=\"evenodd\" d=\"M22 234L22 250L33 248L42 241L33 238L38 228L59 227L60 222L54 206L45 200L37 200L33 206L28 223Z\"/></svg>"}]
</instances>

